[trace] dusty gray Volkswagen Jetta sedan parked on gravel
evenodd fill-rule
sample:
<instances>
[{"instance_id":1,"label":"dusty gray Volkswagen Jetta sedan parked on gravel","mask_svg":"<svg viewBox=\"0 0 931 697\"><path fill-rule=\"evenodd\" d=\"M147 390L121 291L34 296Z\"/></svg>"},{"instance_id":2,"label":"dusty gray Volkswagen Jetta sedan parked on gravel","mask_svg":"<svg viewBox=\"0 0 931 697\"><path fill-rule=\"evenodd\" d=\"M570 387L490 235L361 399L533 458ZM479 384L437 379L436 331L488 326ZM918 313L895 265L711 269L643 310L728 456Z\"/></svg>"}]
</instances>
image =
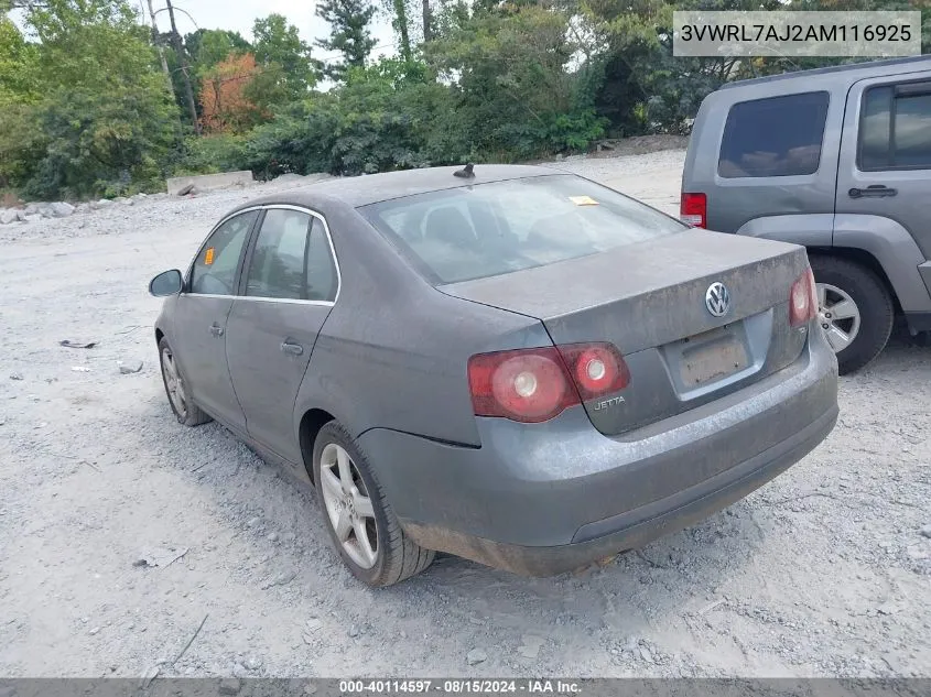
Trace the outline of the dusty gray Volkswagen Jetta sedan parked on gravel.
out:
<instances>
[{"instance_id":1,"label":"dusty gray Volkswagen Jetta sedan parked on gravel","mask_svg":"<svg viewBox=\"0 0 931 697\"><path fill-rule=\"evenodd\" d=\"M318 492L372 586L436 551L550 575L760 487L837 418L802 247L544 167L335 179L152 280L177 420Z\"/></svg>"}]
</instances>

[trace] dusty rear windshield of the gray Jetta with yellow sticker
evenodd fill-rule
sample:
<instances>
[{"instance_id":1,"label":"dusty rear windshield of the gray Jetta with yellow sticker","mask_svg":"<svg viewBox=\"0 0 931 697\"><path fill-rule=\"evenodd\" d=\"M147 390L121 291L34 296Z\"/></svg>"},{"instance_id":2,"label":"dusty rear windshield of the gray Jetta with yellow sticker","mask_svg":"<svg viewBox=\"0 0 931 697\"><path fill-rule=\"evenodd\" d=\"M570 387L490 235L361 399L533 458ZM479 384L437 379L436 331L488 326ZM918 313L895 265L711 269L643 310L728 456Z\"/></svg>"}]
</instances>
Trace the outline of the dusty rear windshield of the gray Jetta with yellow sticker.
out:
<instances>
[{"instance_id":1,"label":"dusty rear windshield of the gray Jetta with yellow sticker","mask_svg":"<svg viewBox=\"0 0 931 697\"><path fill-rule=\"evenodd\" d=\"M609 188L562 174L431 192L359 213L436 284L544 266L689 229Z\"/></svg>"}]
</instances>

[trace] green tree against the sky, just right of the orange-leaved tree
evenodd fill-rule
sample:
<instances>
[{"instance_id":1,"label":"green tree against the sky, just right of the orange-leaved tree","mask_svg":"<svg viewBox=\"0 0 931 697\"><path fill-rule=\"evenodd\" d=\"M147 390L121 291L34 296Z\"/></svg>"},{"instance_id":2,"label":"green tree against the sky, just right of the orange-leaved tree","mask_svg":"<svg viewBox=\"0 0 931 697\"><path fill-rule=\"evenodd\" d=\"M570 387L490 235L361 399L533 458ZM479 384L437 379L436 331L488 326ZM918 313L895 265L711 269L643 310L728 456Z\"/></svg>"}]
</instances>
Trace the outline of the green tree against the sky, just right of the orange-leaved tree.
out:
<instances>
[{"instance_id":1,"label":"green tree against the sky, just right of the orange-leaved tree","mask_svg":"<svg viewBox=\"0 0 931 697\"><path fill-rule=\"evenodd\" d=\"M256 20L252 53L258 65L264 68L263 80L270 87L280 87L288 100L305 98L317 83L321 66L311 55L311 46L301 39L297 28L281 14Z\"/></svg>"}]
</instances>

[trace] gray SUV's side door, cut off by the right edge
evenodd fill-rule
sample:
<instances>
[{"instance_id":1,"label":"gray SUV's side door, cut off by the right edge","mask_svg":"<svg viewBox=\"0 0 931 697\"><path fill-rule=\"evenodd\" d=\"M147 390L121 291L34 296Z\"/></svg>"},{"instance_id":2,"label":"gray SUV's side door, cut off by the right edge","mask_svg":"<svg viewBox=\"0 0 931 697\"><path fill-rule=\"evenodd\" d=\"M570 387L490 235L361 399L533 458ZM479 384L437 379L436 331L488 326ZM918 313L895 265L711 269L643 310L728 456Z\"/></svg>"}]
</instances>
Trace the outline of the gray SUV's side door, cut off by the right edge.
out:
<instances>
[{"instance_id":1,"label":"gray SUV's side door, cut off by the right edge","mask_svg":"<svg viewBox=\"0 0 931 697\"><path fill-rule=\"evenodd\" d=\"M847 113L836 213L890 218L931 259L931 72L862 80Z\"/></svg>"}]
</instances>

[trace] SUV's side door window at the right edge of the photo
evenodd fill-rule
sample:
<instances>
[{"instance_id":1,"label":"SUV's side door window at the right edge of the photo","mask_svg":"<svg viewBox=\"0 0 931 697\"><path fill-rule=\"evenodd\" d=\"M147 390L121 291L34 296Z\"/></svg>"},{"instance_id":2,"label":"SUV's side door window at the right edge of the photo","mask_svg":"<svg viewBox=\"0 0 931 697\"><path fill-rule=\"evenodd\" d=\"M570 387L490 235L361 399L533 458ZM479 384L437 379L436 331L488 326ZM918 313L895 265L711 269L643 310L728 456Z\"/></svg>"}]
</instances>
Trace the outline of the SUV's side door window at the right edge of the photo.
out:
<instances>
[{"instance_id":1,"label":"SUV's side door window at the right edge of the photo","mask_svg":"<svg viewBox=\"0 0 931 697\"><path fill-rule=\"evenodd\" d=\"M864 172L931 168L931 85L866 91L857 166Z\"/></svg>"}]
</instances>

